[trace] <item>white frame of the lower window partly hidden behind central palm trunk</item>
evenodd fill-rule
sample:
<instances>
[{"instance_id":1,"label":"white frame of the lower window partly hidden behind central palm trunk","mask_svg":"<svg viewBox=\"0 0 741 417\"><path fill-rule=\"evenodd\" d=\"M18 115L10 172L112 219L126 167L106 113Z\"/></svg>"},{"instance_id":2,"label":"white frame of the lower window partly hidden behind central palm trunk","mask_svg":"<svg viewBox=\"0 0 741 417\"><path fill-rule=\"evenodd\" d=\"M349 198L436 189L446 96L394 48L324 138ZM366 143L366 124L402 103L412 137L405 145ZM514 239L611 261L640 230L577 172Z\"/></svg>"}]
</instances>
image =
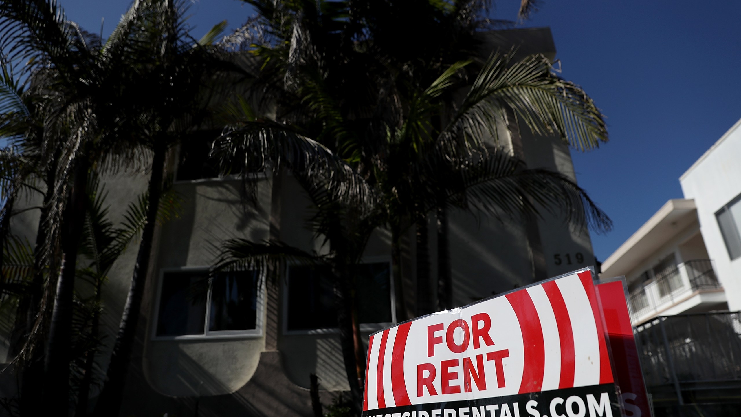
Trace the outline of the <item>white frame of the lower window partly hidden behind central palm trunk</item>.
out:
<instances>
[{"instance_id":1,"label":"white frame of the lower window partly hidden behind central palm trunk","mask_svg":"<svg viewBox=\"0 0 741 417\"><path fill-rule=\"evenodd\" d=\"M360 264L363 263L388 263L388 284L390 286L389 297L391 298L391 322L390 323L366 323L360 324L360 332L377 332L380 329L393 326L396 324L396 288L394 286L393 277L393 261L391 256L368 256L362 257ZM321 327L317 329L300 329L300 330L289 330L288 329L288 274L290 273L291 266L300 266L301 263L289 262L286 263L285 268L285 279L282 280L281 285L281 332L282 335L296 336L296 335L333 335L339 333L339 327Z\"/></svg>"}]
</instances>

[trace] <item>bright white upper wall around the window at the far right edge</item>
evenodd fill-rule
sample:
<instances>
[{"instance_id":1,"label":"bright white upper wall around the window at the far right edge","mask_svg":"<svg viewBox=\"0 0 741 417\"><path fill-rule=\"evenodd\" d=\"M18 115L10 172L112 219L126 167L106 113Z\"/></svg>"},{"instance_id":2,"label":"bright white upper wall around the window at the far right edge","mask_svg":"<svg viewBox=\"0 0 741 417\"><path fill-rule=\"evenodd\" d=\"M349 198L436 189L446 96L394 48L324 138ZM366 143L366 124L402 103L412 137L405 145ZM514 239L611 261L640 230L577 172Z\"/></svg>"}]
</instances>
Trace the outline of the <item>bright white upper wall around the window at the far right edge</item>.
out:
<instances>
[{"instance_id":1,"label":"bright white upper wall around the window at the far right edge","mask_svg":"<svg viewBox=\"0 0 741 417\"><path fill-rule=\"evenodd\" d=\"M715 212L741 194L740 157L741 121L679 178L685 198L695 200L702 239L715 261L731 311L741 309L741 259L728 257Z\"/></svg>"}]
</instances>

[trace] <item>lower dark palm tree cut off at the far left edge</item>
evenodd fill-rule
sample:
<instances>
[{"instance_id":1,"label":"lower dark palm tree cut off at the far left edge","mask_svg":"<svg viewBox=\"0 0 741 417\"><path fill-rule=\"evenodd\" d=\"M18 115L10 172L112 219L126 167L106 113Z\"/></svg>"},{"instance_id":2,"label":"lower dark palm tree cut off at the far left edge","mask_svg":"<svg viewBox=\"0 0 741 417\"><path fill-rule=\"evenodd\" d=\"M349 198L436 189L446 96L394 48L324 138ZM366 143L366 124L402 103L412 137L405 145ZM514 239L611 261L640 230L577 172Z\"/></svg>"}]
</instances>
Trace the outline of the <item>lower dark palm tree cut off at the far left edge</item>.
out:
<instances>
[{"instance_id":1,"label":"lower dark palm tree cut off at the far left edge","mask_svg":"<svg viewBox=\"0 0 741 417\"><path fill-rule=\"evenodd\" d=\"M19 303L16 309L16 322L13 328L13 339L10 355L13 361L22 368L21 412L33 413L39 401L34 398L41 395L39 385L43 381L43 350L48 315L45 305L53 296L53 271L59 265L59 256L52 248L59 240L59 223L61 210L59 199L55 199L55 178L58 174L59 159L62 156L62 141L53 125L48 125L48 116L53 109L53 97L48 93L39 93L38 89L25 88L13 81L13 77L4 71L4 102L10 106L4 108L0 115L0 135L10 142L2 155L2 177L4 206L3 221L0 226L2 240L7 242L10 230L10 217L19 214L14 210L14 201L23 194L39 193L43 196L40 207L39 227L36 232L36 245L31 249L30 277L25 278L11 269L7 274L4 269L3 280L21 279L24 291L16 292ZM50 128L51 127L51 128ZM41 184L36 181L41 179ZM25 199L23 199L25 200ZM4 253L13 252L11 247L3 245ZM3 289L4 292L7 289ZM12 291L11 291L12 292Z\"/></svg>"}]
</instances>

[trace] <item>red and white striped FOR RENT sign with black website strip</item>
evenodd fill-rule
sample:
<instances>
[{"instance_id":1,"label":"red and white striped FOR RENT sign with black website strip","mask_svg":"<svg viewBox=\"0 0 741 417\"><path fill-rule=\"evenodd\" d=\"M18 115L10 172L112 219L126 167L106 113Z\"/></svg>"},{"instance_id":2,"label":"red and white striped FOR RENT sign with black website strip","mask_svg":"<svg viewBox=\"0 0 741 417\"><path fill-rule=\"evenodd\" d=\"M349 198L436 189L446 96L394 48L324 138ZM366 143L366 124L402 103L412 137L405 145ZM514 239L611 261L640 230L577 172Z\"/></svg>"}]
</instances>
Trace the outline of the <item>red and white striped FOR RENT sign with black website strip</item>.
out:
<instances>
[{"instance_id":1,"label":"red and white striped FOR RENT sign with black website strip","mask_svg":"<svg viewBox=\"0 0 741 417\"><path fill-rule=\"evenodd\" d=\"M618 417L582 270L371 335L363 416Z\"/></svg>"}]
</instances>

